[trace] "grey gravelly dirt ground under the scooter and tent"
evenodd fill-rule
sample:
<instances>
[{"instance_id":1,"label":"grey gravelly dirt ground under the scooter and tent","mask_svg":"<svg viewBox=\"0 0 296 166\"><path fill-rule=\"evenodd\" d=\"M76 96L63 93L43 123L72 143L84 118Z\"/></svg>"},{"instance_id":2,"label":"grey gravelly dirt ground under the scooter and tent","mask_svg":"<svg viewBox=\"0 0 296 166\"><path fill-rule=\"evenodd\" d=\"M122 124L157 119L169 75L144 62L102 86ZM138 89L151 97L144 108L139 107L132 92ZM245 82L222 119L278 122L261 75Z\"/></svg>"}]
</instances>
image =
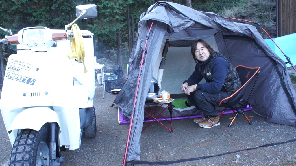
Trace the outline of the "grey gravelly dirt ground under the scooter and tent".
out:
<instances>
[{"instance_id":1,"label":"grey gravelly dirt ground under the scooter and tent","mask_svg":"<svg viewBox=\"0 0 296 166\"><path fill-rule=\"evenodd\" d=\"M103 99L102 87L97 87L94 100L96 137L82 138L80 149L62 152L65 157L62 165L122 166L129 125L118 124L118 108L110 107L115 97L106 92ZM243 116L239 116L229 128L232 114L226 114L221 117L221 124L213 128L200 128L193 119L173 120L173 133L170 133L159 123L153 122L141 134L140 161L162 162L208 157L170 166L296 166L295 141L260 147L296 139L296 126L266 122L253 111L245 113L252 125ZM144 123L143 126L146 125ZM11 144L1 116L0 166L8 166L10 151ZM227 152L232 153L225 154Z\"/></svg>"}]
</instances>

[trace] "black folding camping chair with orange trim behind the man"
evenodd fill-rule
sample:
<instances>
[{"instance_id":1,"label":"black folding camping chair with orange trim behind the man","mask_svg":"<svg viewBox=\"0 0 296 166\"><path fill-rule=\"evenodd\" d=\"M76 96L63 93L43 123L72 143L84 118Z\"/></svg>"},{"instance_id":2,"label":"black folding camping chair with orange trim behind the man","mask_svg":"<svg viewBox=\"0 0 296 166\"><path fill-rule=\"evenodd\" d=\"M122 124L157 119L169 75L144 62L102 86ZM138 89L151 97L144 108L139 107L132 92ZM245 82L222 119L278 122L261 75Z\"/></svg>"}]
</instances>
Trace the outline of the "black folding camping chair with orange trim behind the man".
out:
<instances>
[{"instance_id":1,"label":"black folding camping chair with orange trim behind the man","mask_svg":"<svg viewBox=\"0 0 296 166\"><path fill-rule=\"evenodd\" d=\"M242 83L242 87L240 87L236 92L234 92L231 96L221 100L221 102L219 103L218 107L225 107L225 109L222 111L221 115L225 112L225 110L227 108L231 108L231 110L233 111L233 113L235 113L235 116L233 117L231 123L228 125L228 127L231 127L232 123L234 122L235 118L237 117L238 114L243 114L244 117L247 119L247 121L249 122L249 124L252 124L252 122L249 120L249 118L247 117L247 115L244 114L244 109L247 107L248 105L248 101L250 99L250 96L252 94L252 91L255 87L257 78L258 78L258 74L260 73L260 66L259 67L246 67L246 66L237 66L235 67L235 70L237 71L238 75L239 75L239 79ZM239 102L242 100L242 97L244 96L247 88L249 87L250 83L252 82L252 80L255 78L254 83L253 83L253 87L252 90L248 96L248 99L246 100L243 108L239 108L236 109L234 108L235 105L239 104ZM235 112L236 111L236 112Z\"/></svg>"}]
</instances>

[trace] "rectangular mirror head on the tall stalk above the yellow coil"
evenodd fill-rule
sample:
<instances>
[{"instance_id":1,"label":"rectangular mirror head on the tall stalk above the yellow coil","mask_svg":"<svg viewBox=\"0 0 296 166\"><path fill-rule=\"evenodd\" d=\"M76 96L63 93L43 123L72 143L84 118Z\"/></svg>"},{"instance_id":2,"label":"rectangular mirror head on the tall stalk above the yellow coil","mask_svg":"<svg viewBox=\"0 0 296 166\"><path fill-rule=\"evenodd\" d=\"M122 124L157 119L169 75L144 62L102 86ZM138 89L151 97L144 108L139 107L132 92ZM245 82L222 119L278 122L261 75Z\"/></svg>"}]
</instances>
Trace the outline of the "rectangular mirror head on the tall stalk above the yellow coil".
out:
<instances>
[{"instance_id":1,"label":"rectangular mirror head on the tall stalk above the yellow coil","mask_svg":"<svg viewBox=\"0 0 296 166\"><path fill-rule=\"evenodd\" d=\"M98 9L95 4L87 4L76 6L76 17L78 18L81 13L86 12L79 19L90 19L98 16Z\"/></svg>"}]
</instances>

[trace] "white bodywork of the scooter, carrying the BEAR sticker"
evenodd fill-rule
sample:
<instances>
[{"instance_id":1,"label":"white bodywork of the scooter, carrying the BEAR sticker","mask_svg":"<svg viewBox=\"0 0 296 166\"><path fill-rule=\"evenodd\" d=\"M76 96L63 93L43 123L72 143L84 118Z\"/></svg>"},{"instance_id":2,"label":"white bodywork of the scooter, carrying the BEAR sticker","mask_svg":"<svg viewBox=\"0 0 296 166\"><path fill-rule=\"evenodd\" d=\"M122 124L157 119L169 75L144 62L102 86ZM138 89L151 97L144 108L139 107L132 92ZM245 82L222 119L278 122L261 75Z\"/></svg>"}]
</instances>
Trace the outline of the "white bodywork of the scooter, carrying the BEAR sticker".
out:
<instances>
[{"instance_id":1,"label":"white bodywork of the scooter, carrying the BEAR sticker","mask_svg":"<svg viewBox=\"0 0 296 166\"><path fill-rule=\"evenodd\" d=\"M61 30L53 31L61 32ZM83 32L91 34L89 31ZM57 47L52 48L51 52L31 53L29 50L21 50L9 56L0 108L7 131L10 128L13 129L9 134L9 137L12 136L10 138L12 143L17 129L23 128L20 124L31 121L26 126L35 125L32 129L37 129L42 123L53 121L57 122L60 127L59 143L61 146L69 150L80 147L79 108L93 107L95 94L93 38L83 38L83 42L85 45L84 64L67 56L70 50L69 40L58 42ZM25 48L25 46L21 47ZM57 117L49 113L47 108L52 108ZM25 112L22 113L23 111ZM17 121L22 119L20 115L26 113L30 114L28 118L31 116L29 120ZM13 122L15 118L17 120ZM38 121L33 125L37 118ZM55 120L49 120L49 118Z\"/></svg>"}]
</instances>

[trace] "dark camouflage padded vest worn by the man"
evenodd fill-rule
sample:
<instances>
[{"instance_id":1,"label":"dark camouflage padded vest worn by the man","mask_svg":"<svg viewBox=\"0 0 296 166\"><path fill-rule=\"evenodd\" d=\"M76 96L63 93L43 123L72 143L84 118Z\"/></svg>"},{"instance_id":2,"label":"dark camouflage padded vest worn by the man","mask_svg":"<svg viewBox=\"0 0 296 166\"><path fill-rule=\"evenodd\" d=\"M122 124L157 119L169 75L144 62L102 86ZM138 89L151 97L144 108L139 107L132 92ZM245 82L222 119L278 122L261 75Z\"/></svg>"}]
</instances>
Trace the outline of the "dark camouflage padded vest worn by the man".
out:
<instances>
[{"instance_id":1,"label":"dark camouflage padded vest worn by the man","mask_svg":"<svg viewBox=\"0 0 296 166\"><path fill-rule=\"evenodd\" d=\"M207 82L212 82L212 73L213 72L211 71L211 65L212 65L214 59L217 57L222 57L229 63L226 79L225 79L225 82L223 84L221 91L225 91L230 94L233 94L242 85L241 85L241 82L240 82L240 79L239 79L239 76L238 76L236 70L222 54L215 52L211 56L209 63L207 63L204 67L201 67L201 66L198 67L199 72L202 75L202 77L205 78L205 80ZM211 73L211 74L208 74L208 73Z\"/></svg>"}]
</instances>

